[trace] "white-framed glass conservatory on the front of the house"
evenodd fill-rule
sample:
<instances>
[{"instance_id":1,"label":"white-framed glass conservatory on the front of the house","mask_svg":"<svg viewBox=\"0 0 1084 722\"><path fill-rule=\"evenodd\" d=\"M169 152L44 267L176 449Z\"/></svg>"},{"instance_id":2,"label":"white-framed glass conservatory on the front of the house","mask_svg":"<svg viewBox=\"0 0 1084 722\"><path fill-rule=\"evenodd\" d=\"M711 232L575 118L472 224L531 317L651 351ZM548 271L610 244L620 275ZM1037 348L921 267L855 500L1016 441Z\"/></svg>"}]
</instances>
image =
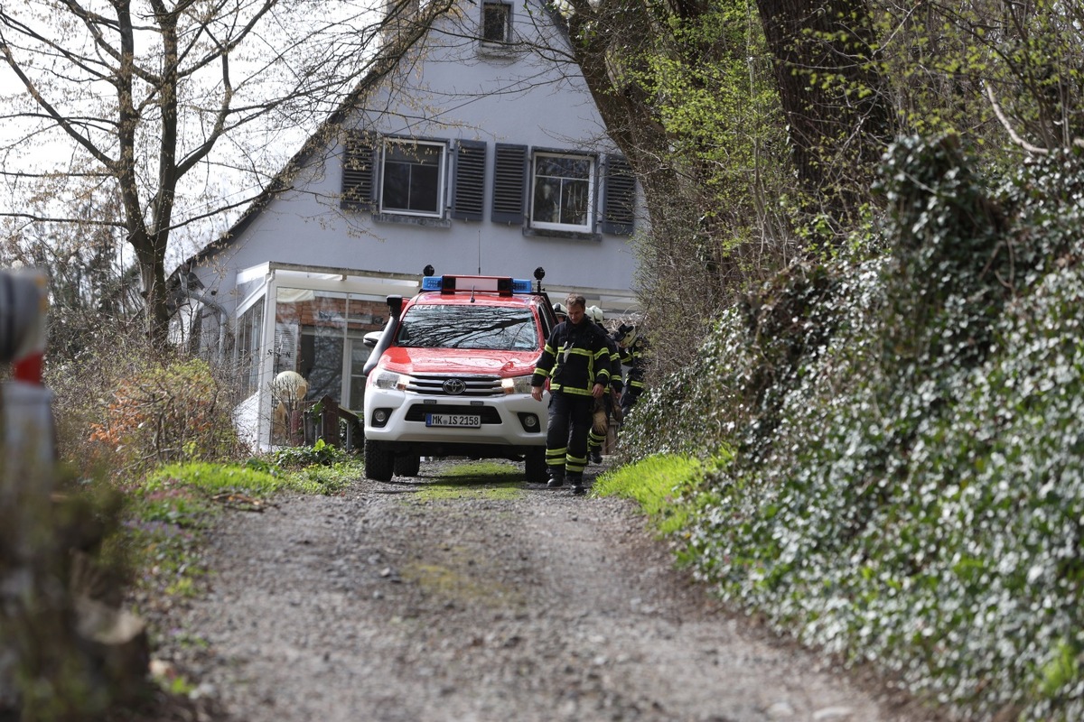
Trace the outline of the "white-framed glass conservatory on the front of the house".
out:
<instances>
[{"instance_id":1,"label":"white-framed glass conservatory on the front of the house","mask_svg":"<svg viewBox=\"0 0 1084 722\"><path fill-rule=\"evenodd\" d=\"M388 296L414 296L421 275L264 263L236 275L227 293L189 292L179 320L189 341L236 369L242 438L267 450L296 438L300 412L324 396L360 413L370 349ZM232 303L231 303L232 305Z\"/></svg>"}]
</instances>

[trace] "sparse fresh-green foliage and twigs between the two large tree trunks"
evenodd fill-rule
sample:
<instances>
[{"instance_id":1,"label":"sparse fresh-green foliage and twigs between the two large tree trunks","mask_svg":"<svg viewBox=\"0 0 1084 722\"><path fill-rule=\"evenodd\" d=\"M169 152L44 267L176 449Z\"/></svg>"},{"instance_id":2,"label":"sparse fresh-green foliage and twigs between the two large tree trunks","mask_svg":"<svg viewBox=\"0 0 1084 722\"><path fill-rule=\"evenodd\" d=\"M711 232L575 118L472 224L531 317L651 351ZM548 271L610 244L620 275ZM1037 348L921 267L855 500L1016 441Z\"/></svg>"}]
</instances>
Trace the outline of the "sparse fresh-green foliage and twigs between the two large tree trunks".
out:
<instances>
[{"instance_id":1,"label":"sparse fresh-green foliage and twigs between the two large tree trunks","mask_svg":"<svg viewBox=\"0 0 1084 722\"><path fill-rule=\"evenodd\" d=\"M624 148L645 156L636 171L651 231L637 244L636 285L651 366L666 372L691 358L736 292L783 264L796 245L785 228L798 204L778 202L795 188L756 8L725 0L679 16L654 5L646 26L625 27L633 15L602 22L617 26L620 92L650 99L650 117L632 122L667 139L666 148Z\"/></svg>"}]
</instances>

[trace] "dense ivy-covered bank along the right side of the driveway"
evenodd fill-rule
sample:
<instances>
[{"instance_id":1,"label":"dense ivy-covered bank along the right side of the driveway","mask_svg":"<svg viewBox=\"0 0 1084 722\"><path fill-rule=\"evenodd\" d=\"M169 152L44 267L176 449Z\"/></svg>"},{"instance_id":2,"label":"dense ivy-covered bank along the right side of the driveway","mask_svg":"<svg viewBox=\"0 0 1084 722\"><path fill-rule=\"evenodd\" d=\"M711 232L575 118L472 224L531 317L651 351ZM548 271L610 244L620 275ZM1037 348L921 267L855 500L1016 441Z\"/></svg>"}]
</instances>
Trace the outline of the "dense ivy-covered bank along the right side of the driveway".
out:
<instances>
[{"instance_id":1,"label":"dense ivy-covered bank along the right side of the driveway","mask_svg":"<svg viewBox=\"0 0 1084 722\"><path fill-rule=\"evenodd\" d=\"M1084 160L882 171L866 258L728 310L622 454L737 450L682 536L726 599L979 718L1084 719Z\"/></svg>"}]
</instances>

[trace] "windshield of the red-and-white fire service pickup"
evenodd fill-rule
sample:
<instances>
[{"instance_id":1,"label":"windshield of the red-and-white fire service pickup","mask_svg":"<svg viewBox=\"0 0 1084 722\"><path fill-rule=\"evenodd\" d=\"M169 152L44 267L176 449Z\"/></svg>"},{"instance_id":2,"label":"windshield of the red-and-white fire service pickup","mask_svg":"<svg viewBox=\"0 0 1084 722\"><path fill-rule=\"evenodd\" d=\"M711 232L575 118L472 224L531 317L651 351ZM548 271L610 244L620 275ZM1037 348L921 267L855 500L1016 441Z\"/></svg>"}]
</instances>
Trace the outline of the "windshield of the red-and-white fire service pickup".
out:
<instances>
[{"instance_id":1,"label":"windshield of the red-and-white fire service pickup","mask_svg":"<svg viewBox=\"0 0 1084 722\"><path fill-rule=\"evenodd\" d=\"M533 351L539 347L530 309L473 304L411 306L399 325L395 342L417 349Z\"/></svg>"}]
</instances>

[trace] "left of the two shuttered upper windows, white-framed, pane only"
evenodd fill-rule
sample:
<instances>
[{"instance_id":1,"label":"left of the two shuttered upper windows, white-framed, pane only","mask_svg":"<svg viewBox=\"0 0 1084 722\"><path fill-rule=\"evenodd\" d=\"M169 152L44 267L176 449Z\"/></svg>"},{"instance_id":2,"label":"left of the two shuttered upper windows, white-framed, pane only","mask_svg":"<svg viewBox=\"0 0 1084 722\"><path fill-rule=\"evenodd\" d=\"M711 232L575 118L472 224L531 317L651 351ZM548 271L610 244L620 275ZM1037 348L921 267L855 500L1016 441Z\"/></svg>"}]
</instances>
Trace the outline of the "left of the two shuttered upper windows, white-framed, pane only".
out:
<instances>
[{"instance_id":1,"label":"left of the two shuttered upper windows, white-framed, pane only","mask_svg":"<svg viewBox=\"0 0 1084 722\"><path fill-rule=\"evenodd\" d=\"M380 210L439 218L444 197L444 144L387 139L380 169Z\"/></svg>"}]
</instances>

